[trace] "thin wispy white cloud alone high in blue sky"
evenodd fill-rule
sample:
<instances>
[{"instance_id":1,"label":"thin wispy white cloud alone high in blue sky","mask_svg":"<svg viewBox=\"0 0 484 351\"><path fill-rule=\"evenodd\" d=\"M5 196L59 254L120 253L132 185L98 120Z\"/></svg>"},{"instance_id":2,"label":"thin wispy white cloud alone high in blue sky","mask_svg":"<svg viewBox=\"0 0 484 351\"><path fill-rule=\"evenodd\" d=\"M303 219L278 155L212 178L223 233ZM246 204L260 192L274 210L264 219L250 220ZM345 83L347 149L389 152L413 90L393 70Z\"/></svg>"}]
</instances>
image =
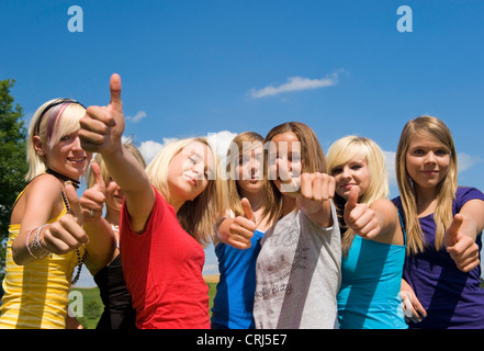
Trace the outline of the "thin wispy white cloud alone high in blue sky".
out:
<instances>
[{"instance_id":1,"label":"thin wispy white cloud alone high in blue sky","mask_svg":"<svg viewBox=\"0 0 484 351\"><path fill-rule=\"evenodd\" d=\"M250 89L250 97L259 99L263 97L277 95L283 92L289 91L300 91L300 90L308 90L308 89L318 89L323 87L331 87L338 83L338 73L334 72L330 78L322 78L322 79L311 79L303 77L290 77L288 82L274 87L267 86L262 89Z\"/></svg>"}]
</instances>

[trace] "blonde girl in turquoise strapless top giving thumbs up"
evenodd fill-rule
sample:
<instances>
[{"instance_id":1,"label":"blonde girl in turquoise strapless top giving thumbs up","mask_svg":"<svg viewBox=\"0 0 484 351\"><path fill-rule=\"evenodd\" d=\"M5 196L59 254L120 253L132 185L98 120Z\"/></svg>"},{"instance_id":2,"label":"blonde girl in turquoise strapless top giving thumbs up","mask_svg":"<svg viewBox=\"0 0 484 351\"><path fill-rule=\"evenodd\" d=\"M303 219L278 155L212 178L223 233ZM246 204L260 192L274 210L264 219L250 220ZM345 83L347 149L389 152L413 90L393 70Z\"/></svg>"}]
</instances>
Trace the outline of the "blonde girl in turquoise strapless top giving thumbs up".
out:
<instances>
[{"instance_id":1,"label":"blonde girl in turquoise strapless top giving thumbs up","mask_svg":"<svg viewBox=\"0 0 484 351\"><path fill-rule=\"evenodd\" d=\"M406 329L399 290L405 234L387 199L385 160L369 138L347 136L327 154L341 227L341 329Z\"/></svg>"}]
</instances>

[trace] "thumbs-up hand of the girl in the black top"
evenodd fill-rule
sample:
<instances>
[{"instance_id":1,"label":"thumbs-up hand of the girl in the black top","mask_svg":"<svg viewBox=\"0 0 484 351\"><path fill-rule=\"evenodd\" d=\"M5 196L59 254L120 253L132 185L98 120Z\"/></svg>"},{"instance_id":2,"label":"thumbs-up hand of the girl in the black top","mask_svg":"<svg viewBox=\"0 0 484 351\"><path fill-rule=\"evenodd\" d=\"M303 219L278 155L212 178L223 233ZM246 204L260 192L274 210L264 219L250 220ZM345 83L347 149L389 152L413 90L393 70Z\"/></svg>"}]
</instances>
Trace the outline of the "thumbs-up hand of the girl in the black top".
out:
<instances>
[{"instance_id":1,"label":"thumbs-up hand of the girl in the black top","mask_svg":"<svg viewBox=\"0 0 484 351\"><path fill-rule=\"evenodd\" d=\"M87 189L79 200L85 222L100 218L105 202L105 184L102 179L101 169L95 161L91 162L91 168L95 184Z\"/></svg>"}]
</instances>

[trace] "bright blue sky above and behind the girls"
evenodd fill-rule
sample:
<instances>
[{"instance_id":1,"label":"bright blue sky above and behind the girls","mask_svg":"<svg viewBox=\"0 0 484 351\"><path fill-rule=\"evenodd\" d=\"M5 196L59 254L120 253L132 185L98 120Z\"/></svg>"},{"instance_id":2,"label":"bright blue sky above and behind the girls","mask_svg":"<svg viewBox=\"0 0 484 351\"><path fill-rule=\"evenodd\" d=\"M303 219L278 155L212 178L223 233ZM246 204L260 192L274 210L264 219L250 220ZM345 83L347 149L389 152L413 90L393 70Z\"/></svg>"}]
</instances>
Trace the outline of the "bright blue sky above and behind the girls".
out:
<instances>
[{"instance_id":1,"label":"bright blue sky above and behind the girls","mask_svg":"<svg viewBox=\"0 0 484 351\"><path fill-rule=\"evenodd\" d=\"M29 121L53 98L106 104L119 72L125 135L147 158L172 138L300 121L324 150L358 134L391 163L404 124L430 114L452 131L459 183L484 190L483 15L482 0L2 0L0 79Z\"/></svg>"}]
</instances>

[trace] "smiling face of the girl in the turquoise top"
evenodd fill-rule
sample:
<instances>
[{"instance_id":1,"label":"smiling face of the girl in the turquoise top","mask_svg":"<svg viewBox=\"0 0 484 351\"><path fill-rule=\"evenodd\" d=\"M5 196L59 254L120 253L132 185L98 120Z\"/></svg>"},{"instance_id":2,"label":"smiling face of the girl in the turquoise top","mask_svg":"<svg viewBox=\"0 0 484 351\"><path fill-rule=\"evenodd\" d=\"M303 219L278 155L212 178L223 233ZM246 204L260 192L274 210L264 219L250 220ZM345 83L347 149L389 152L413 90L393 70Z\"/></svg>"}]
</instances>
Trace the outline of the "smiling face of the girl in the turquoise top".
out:
<instances>
[{"instance_id":1,"label":"smiling face of the girl in the turquoise top","mask_svg":"<svg viewBox=\"0 0 484 351\"><path fill-rule=\"evenodd\" d=\"M351 188L357 186L359 196L362 196L370 186L370 171L367 160L361 157L353 157L334 167L331 174L335 177L336 193L345 200L348 200Z\"/></svg>"}]
</instances>

